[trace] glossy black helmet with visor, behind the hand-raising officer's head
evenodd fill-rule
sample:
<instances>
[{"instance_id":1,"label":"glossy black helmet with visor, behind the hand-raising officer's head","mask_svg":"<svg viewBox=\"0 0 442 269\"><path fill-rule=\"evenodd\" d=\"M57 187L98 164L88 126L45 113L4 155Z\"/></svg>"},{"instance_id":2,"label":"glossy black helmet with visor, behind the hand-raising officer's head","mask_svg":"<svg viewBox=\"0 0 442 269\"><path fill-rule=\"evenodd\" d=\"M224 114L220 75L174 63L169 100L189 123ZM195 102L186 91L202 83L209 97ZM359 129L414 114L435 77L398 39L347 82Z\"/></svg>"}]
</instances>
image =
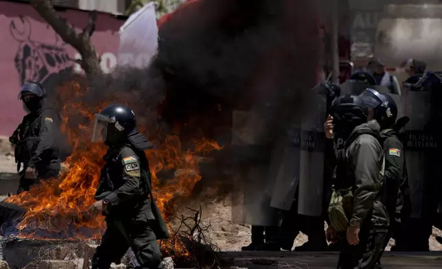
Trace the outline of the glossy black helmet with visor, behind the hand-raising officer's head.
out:
<instances>
[{"instance_id":1,"label":"glossy black helmet with visor, behind the hand-raising officer's head","mask_svg":"<svg viewBox=\"0 0 442 269\"><path fill-rule=\"evenodd\" d=\"M382 129L392 128L397 119L397 104L393 97L378 93L374 89L366 89L360 94L369 110L374 110L374 119Z\"/></svg>"}]
</instances>

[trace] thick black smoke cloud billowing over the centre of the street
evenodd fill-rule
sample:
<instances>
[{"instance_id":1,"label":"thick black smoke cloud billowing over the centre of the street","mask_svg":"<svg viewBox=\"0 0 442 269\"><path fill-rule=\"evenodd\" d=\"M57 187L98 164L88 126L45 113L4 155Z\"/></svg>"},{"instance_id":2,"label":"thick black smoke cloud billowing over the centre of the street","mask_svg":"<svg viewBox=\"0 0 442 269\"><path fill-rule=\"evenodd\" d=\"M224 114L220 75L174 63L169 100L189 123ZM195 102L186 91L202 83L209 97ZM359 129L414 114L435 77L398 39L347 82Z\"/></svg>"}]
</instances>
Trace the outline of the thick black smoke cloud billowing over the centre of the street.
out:
<instances>
[{"instance_id":1,"label":"thick black smoke cloud billowing over the centre of the street","mask_svg":"<svg viewBox=\"0 0 442 269\"><path fill-rule=\"evenodd\" d=\"M178 126L184 145L196 136L216 139L225 148L216 157L222 167L235 154L233 110L264 111L270 148L288 119L307 112L303 93L316 84L322 49L316 14L316 1L195 1L160 26L148 68L97 78L80 101L128 104L143 130Z\"/></svg>"}]
</instances>

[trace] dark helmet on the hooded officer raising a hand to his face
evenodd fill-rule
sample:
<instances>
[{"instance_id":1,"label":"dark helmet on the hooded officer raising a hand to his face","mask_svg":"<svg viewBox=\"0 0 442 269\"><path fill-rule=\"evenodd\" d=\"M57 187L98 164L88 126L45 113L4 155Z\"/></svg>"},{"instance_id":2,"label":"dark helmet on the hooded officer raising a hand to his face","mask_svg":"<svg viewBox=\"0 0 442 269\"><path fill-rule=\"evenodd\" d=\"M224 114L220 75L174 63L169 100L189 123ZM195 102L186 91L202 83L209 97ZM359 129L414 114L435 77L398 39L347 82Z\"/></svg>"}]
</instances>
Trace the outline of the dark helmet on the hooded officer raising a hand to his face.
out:
<instances>
[{"instance_id":1,"label":"dark helmet on the hooded officer raising a hand to his face","mask_svg":"<svg viewBox=\"0 0 442 269\"><path fill-rule=\"evenodd\" d=\"M334 134L347 139L356 126L367 122L367 108L361 97L343 95L337 97L329 110L333 117Z\"/></svg>"}]
</instances>

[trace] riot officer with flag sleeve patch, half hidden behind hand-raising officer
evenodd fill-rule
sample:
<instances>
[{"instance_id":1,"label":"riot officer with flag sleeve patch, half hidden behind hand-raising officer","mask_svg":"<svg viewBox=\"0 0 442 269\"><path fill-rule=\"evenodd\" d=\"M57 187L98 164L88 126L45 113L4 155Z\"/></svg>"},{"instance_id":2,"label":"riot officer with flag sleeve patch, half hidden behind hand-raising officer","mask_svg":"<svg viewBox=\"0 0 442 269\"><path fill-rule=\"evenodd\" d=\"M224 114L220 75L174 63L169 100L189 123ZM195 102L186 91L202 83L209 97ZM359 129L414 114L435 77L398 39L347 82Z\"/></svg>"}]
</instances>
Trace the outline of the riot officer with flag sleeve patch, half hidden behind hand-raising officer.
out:
<instances>
[{"instance_id":1,"label":"riot officer with flag sleeve patch, half hidden behind hand-raising officer","mask_svg":"<svg viewBox=\"0 0 442 269\"><path fill-rule=\"evenodd\" d=\"M403 117L396 122L397 105L393 97L385 93L378 93L374 89L367 89L362 93L366 104L374 111L374 118L381 126L381 137L384 146L385 171L382 189L383 198L390 226L382 250L388 245L388 241L393 237L394 232L400 227L401 210L406 191L406 163L404 146L399 139L399 130L408 122L408 118ZM399 239L400 241L400 239ZM380 261L378 262L380 267Z\"/></svg>"}]
</instances>

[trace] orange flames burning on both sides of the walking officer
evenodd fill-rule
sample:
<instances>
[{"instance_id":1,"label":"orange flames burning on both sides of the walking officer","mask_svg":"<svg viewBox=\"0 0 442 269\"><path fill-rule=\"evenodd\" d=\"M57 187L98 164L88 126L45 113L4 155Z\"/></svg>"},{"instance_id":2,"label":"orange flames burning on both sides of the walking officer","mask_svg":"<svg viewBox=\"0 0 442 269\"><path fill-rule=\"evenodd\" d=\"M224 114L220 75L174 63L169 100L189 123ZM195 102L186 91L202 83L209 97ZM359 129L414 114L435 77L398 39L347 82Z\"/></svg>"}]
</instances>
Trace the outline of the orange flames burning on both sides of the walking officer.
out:
<instances>
[{"instance_id":1,"label":"orange flames burning on both sides of the walking officer","mask_svg":"<svg viewBox=\"0 0 442 269\"><path fill-rule=\"evenodd\" d=\"M73 154L65 165L67 169L57 180L46 180L18 196L12 196L8 202L19 204L27 209L23 220L16 226L21 237L41 239L51 238L100 238L106 229L102 215L90 215L89 209L95 202L94 194L100 180L100 169L104 165L102 156L106 153L105 145L91 143L91 123L93 115L107 104L85 107L75 98L86 94L87 89L73 81L60 87L62 104L62 131L73 143ZM121 102L121 100L119 100ZM69 122L84 120L77 128ZM151 134L152 135L152 134ZM165 220L173 214L171 205L174 198L189 196L194 185L200 180L198 163L202 156L212 150L220 150L215 141L200 139L194 141L192 150L183 150L176 134L166 137L154 137L151 141L158 148L147 150L152 172L154 196ZM175 171L174 177L167 182L160 182L157 175L161 171Z\"/></svg>"}]
</instances>

